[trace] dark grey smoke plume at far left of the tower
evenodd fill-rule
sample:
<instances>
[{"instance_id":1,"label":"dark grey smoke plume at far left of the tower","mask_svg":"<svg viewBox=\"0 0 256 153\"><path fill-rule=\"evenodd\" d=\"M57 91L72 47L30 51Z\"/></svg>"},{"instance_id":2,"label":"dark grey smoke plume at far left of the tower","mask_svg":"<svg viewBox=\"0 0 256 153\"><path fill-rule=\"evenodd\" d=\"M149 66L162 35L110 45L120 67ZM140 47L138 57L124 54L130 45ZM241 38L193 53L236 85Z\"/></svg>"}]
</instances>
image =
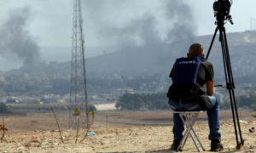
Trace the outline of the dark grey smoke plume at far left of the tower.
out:
<instances>
[{"instance_id":1,"label":"dark grey smoke plume at far left of the tower","mask_svg":"<svg viewBox=\"0 0 256 153\"><path fill-rule=\"evenodd\" d=\"M38 43L26 30L30 14L28 7L11 10L0 27L0 54L9 59L18 57L25 67L37 65L40 60Z\"/></svg>"}]
</instances>

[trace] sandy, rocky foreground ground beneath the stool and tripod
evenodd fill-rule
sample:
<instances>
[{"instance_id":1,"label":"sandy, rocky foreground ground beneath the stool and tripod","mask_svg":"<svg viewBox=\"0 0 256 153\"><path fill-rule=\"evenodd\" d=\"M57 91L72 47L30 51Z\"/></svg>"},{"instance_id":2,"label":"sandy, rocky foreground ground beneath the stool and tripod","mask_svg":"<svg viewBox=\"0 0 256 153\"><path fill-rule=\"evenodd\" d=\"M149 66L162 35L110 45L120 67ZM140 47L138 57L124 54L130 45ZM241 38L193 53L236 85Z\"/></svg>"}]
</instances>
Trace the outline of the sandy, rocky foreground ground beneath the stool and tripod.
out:
<instances>
[{"instance_id":1,"label":"sandy, rocky foreground ground beneath the stool and tripod","mask_svg":"<svg viewBox=\"0 0 256 153\"><path fill-rule=\"evenodd\" d=\"M236 139L231 121L221 122L224 152L256 152L256 132L249 129L256 127L256 121L241 121L241 130L245 139L245 147L235 150ZM66 153L66 152L170 152L172 144L172 126L140 126L140 127L99 127L91 128L96 135L88 136L79 142L85 130L79 132L78 143L75 144L75 131L62 130L64 144L58 130L33 130L7 133L0 143L0 152L21 153ZM195 131L199 135L206 150L210 150L207 139L207 122L198 122ZM183 152L197 152L189 138Z\"/></svg>"}]
</instances>

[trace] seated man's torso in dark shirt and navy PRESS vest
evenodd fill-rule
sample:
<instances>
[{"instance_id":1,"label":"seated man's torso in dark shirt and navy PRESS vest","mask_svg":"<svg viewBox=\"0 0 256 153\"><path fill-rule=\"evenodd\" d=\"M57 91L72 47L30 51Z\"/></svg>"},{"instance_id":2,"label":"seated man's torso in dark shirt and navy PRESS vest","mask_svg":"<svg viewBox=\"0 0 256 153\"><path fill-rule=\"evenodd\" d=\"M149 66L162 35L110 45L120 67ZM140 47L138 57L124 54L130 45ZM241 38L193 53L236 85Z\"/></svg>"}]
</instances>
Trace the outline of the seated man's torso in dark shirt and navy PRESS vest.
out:
<instances>
[{"instance_id":1,"label":"seated man's torso in dark shirt and navy PRESS vest","mask_svg":"<svg viewBox=\"0 0 256 153\"><path fill-rule=\"evenodd\" d=\"M201 62L195 67L193 61L198 58L177 59L169 76L172 77L172 86L169 88L167 95L172 101L179 103L189 103L190 101L199 103L202 110L207 110L211 107L211 102L202 87L208 81L213 82L214 71L212 63L203 58L200 58ZM195 73L195 75L190 75L189 73ZM194 76L195 82L191 82L193 79L191 80L189 77Z\"/></svg>"}]
</instances>

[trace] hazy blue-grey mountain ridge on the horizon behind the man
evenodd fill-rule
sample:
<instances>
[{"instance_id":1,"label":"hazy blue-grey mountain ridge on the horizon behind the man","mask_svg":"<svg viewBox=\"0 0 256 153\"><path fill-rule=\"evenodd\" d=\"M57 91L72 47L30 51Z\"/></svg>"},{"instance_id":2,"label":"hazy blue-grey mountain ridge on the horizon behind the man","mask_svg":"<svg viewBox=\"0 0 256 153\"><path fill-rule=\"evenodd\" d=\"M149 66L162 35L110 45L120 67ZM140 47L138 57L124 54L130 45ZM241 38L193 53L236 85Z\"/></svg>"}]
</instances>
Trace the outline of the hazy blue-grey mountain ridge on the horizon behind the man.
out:
<instances>
[{"instance_id":1,"label":"hazy blue-grey mountain ridge on the horizon behind the man","mask_svg":"<svg viewBox=\"0 0 256 153\"><path fill-rule=\"evenodd\" d=\"M256 76L256 31L245 31L227 34L230 58L236 77ZM195 37L194 42L201 42L206 54L212 36ZM162 74L166 77L172 68L175 59L186 56L189 41L183 40L172 43L151 43L140 47L126 47L111 54L102 54L86 59L88 77L102 76L131 76L137 77L145 74ZM123 50L122 50L123 49ZM212 47L209 60L213 63L216 77L222 77L223 61L218 36ZM51 62L41 65L37 71L22 67L18 70L8 71L7 74L34 74L34 75L69 75L70 62Z\"/></svg>"}]
</instances>

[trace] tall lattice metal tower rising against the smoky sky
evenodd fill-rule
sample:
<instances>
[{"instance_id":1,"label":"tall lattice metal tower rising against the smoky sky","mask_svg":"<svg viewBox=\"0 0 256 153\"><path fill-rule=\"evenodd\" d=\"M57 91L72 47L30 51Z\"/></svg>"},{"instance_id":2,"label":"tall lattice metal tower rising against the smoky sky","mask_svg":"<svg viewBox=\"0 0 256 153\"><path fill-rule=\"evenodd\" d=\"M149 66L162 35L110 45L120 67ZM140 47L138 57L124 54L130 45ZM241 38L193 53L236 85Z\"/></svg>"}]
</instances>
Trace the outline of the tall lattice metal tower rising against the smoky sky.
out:
<instances>
[{"instance_id":1,"label":"tall lattice metal tower rising against the smoky sky","mask_svg":"<svg viewBox=\"0 0 256 153\"><path fill-rule=\"evenodd\" d=\"M81 111L80 116L75 116L74 110ZM72 37L72 59L70 76L70 104L68 128L74 128L77 124L77 118L80 119L80 127L84 124L89 125L89 118L85 116L88 111L86 71L84 57L84 31L81 0L73 0L73 37Z\"/></svg>"}]
</instances>

